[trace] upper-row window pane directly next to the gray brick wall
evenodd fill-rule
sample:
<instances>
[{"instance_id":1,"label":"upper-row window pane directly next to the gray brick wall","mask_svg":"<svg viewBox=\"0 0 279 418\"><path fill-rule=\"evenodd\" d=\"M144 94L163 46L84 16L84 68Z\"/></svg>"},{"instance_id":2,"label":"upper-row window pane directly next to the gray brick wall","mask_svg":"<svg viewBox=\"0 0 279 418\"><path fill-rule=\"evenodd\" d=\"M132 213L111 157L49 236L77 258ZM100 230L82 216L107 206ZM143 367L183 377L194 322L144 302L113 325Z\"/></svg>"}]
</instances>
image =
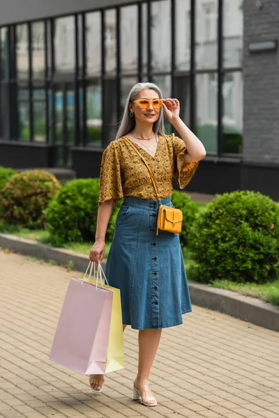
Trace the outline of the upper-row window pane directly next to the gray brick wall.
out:
<instances>
[{"instance_id":1,"label":"upper-row window pane directly next to the gray brick wall","mask_svg":"<svg viewBox=\"0 0 279 418\"><path fill-rule=\"evenodd\" d=\"M243 8L239 0L224 3L224 67L242 67Z\"/></svg>"}]
</instances>

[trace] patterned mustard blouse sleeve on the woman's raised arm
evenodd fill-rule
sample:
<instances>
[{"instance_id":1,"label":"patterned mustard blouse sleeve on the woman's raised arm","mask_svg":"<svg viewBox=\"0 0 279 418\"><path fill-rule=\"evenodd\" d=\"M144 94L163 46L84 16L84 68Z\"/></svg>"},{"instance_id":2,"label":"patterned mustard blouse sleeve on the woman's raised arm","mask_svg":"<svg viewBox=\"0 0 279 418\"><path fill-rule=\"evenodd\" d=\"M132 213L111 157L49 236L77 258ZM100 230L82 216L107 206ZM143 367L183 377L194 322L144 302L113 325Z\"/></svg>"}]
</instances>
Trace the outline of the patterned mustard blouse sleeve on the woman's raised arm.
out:
<instances>
[{"instance_id":1,"label":"patterned mustard blouse sleeve on the woman's raised arm","mask_svg":"<svg viewBox=\"0 0 279 418\"><path fill-rule=\"evenodd\" d=\"M180 189L183 189L190 183L199 162L184 161L184 157L188 153L186 145L182 139L175 137L174 134L172 137L172 146L174 150L174 178Z\"/></svg>"}]
</instances>

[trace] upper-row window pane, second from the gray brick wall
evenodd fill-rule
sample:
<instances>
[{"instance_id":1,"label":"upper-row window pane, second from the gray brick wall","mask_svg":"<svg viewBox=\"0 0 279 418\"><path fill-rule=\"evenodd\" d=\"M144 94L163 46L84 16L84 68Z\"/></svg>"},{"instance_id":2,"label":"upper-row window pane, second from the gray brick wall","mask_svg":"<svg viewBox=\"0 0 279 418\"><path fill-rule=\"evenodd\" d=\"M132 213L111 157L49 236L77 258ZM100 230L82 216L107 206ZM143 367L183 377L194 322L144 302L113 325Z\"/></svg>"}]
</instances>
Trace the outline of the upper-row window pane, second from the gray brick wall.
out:
<instances>
[{"instance_id":1,"label":"upper-row window pane, second from the gray brick wall","mask_svg":"<svg viewBox=\"0 0 279 418\"><path fill-rule=\"evenodd\" d=\"M196 67L217 68L218 2L197 0L196 6Z\"/></svg>"}]
</instances>

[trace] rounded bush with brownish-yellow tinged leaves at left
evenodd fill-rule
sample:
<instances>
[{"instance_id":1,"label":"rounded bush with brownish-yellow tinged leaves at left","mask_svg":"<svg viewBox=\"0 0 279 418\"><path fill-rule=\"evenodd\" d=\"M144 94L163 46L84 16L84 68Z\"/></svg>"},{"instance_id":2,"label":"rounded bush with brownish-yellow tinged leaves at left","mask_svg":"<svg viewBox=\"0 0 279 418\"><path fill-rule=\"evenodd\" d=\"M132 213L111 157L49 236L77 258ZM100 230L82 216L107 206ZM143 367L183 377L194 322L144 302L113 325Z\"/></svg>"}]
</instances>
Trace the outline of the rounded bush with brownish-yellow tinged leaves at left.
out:
<instances>
[{"instance_id":1,"label":"rounded bush with brownish-yellow tinged leaves at left","mask_svg":"<svg viewBox=\"0 0 279 418\"><path fill-rule=\"evenodd\" d=\"M59 188L59 181L47 171L15 174L3 188L0 215L7 224L43 228L44 210Z\"/></svg>"}]
</instances>

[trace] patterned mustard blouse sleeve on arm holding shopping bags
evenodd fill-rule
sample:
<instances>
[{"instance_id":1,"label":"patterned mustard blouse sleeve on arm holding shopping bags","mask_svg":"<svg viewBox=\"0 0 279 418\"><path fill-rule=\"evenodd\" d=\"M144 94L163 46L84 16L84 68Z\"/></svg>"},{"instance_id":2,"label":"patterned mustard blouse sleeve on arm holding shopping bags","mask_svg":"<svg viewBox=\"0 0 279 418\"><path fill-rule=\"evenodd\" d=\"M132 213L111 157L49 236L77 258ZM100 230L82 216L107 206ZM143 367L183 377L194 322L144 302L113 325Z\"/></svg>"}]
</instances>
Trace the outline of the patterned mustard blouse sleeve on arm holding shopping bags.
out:
<instances>
[{"instance_id":1,"label":"patterned mustard blouse sleeve on arm holding shopping bags","mask_svg":"<svg viewBox=\"0 0 279 418\"><path fill-rule=\"evenodd\" d=\"M103 152L100 167L99 205L110 199L122 199L121 167L119 150L112 142Z\"/></svg>"}]
</instances>

